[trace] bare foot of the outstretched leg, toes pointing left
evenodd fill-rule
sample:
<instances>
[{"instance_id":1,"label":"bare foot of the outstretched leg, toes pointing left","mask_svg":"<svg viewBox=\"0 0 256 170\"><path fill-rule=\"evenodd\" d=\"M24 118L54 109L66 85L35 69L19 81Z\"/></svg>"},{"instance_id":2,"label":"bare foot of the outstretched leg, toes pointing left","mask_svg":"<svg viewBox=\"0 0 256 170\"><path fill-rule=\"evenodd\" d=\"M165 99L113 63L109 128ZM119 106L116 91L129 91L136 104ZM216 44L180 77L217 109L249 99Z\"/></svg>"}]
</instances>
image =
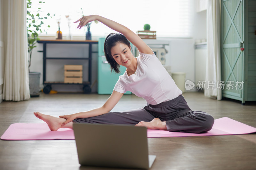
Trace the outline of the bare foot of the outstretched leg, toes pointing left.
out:
<instances>
[{"instance_id":1,"label":"bare foot of the outstretched leg, toes pointing left","mask_svg":"<svg viewBox=\"0 0 256 170\"><path fill-rule=\"evenodd\" d=\"M61 124L66 121L64 118L60 117L53 117L50 115L44 115L39 112L34 112L34 115L43 120L50 128L51 131L57 131L58 129L61 128Z\"/></svg>"}]
</instances>

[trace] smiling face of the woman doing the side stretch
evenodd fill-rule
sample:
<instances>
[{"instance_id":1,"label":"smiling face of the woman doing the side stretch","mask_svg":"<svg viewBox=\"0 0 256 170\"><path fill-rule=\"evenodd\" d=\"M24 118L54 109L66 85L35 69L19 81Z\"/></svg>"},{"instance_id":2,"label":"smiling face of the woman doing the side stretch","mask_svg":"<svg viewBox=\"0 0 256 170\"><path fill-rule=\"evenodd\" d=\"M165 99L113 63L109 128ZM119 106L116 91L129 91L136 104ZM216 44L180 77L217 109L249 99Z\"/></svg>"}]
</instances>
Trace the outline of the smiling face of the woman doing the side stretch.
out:
<instances>
[{"instance_id":1,"label":"smiling face of the woman doing the side stretch","mask_svg":"<svg viewBox=\"0 0 256 170\"><path fill-rule=\"evenodd\" d=\"M133 55L129 46L123 43L117 43L116 46L113 46L110 51L117 64L124 67L130 66Z\"/></svg>"}]
</instances>

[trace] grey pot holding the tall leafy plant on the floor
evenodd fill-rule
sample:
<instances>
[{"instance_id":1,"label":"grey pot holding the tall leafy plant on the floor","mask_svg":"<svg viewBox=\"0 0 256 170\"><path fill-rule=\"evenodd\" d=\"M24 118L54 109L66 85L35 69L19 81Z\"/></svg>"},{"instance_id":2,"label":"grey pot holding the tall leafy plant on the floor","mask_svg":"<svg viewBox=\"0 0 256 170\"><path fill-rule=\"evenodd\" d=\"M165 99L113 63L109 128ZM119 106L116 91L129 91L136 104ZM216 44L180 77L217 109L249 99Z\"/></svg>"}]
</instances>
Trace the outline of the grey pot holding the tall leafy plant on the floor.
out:
<instances>
[{"instance_id":1,"label":"grey pot holding the tall leafy plant on the floor","mask_svg":"<svg viewBox=\"0 0 256 170\"><path fill-rule=\"evenodd\" d=\"M39 97L40 92L40 72L29 73L29 91L30 97Z\"/></svg>"}]
</instances>

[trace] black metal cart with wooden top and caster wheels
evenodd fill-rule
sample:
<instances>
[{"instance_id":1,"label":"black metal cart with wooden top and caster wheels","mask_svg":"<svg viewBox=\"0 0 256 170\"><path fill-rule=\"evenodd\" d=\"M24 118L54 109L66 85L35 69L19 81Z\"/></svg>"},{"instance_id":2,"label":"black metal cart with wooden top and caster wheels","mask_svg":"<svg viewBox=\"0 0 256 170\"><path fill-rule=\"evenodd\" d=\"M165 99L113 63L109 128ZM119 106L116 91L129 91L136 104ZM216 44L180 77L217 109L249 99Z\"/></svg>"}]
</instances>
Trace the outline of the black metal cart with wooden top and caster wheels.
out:
<instances>
[{"instance_id":1,"label":"black metal cart with wooden top and caster wheels","mask_svg":"<svg viewBox=\"0 0 256 170\"><path fill-rule=\"evenodd\" d=\"M90 85L92 84L92 53L98 53L98 51L92 51L92 44L98 44L98 41L92 40L39 40L37 43L43 44L43 84L44 84L44 93L49 94L52 89L52 84L82 84L83 85L83 92L85 94L91 93L92 89ZM89 45L89 57L88 58L81 58L81 57L47 57L46 56L46 46L47 44L88 44ZM64 83L64 81L46 81L46 60L88 60L88 81L83 81L83 83ZM83 71L84 72L84 71Z\"/></svg>"}]
</instances>

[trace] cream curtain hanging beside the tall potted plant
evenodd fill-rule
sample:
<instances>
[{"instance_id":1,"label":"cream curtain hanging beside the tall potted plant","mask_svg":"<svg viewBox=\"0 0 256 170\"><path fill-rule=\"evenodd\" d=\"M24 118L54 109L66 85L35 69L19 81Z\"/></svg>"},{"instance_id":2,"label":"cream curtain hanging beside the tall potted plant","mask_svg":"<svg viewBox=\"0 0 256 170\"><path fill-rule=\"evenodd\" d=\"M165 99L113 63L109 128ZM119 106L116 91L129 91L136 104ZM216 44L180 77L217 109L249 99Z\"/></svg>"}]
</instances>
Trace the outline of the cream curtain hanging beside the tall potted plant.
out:
<instances>
[{"instance_id":1,"label":"cream curtain hanging beside the tall potted plant","mask_svg":"<svg viewBox=\"0 0 256 170\"><path fill-rule=\"evenodd\" d=\"M4 89L3 99L22 101L30 98L28 79L28 38L26 0L4 3Z\"/></svg>"}]
</instances>

